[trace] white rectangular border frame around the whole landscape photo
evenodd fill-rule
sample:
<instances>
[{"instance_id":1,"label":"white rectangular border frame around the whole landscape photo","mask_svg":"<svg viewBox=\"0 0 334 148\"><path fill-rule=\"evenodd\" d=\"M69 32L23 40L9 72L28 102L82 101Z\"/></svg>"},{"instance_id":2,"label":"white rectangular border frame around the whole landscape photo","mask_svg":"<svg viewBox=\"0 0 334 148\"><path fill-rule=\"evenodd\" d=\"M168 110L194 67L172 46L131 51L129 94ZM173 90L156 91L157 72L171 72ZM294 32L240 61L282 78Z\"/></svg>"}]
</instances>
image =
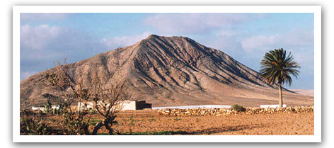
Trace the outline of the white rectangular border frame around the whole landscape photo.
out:
<instances>
[{"instance_id":1,"label":"white rectangular border frame around the whole landscape photo","mask_svg":"<svg viewBox=\"0 0 334 148\"><path fill-rule=\"evenodd\" d=\"M20 13L314 13L314 135L20 135ZM13 6L13 142L321 142L321 6Z\"/></svg>"}]
</instances>

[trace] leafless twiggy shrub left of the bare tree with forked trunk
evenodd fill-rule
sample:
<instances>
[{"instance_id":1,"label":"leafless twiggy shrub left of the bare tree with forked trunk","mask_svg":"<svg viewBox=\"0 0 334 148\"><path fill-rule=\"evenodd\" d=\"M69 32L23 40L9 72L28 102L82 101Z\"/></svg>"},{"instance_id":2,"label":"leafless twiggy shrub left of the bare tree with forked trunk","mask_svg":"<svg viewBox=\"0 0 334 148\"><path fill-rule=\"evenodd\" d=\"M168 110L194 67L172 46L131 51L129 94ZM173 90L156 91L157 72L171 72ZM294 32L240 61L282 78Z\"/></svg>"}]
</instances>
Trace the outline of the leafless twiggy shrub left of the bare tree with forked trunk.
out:
<instances>
[{"instance_id":1,"label":"leafless twiggy shrub left of the bare tree with forked trunk","mask_svg":"<svg viewBox=\"0 0 334 148\"><path fill-rule=\"evenodd\" d=\"M81 106L74 103L83 102L84 105L91 99L90 89L84 88L83 76L79 76L77 81L71 76L69 66L60 62L57 67L50 69L45 75L54 88L62 93L58 97L59 113L58 117L61 121L59 124L67 135L89 135L88 126L91 118L91 112L81 110Z\"/></svg>"}]
</instances>

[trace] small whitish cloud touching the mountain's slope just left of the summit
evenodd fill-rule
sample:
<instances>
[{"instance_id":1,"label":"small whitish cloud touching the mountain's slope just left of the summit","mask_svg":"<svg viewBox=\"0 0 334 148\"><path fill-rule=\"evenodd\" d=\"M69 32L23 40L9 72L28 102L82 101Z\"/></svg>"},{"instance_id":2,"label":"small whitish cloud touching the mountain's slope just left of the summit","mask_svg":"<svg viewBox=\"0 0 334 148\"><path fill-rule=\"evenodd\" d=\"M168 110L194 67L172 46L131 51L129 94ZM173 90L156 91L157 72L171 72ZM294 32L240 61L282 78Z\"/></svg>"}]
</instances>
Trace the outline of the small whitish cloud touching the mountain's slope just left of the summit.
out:
<instances>
[{"instance_id":1,"label":"small whitish cloud touching the mountain's slope just left of the summit","mask_svg":"<svg viewBox=\"0 0 334 148\"><path fill-rule=\"evenodd\" d=\"M147 38L151 33L144 32L140 35L129 35L129 36L117 36L114 38L103 38L101 42L103 44L107 45L110 48L116 48L116 47L125 47L128 45L133 45L136 42L139 42L140 40L143 40Z\"/></svg>"}]
</instances>

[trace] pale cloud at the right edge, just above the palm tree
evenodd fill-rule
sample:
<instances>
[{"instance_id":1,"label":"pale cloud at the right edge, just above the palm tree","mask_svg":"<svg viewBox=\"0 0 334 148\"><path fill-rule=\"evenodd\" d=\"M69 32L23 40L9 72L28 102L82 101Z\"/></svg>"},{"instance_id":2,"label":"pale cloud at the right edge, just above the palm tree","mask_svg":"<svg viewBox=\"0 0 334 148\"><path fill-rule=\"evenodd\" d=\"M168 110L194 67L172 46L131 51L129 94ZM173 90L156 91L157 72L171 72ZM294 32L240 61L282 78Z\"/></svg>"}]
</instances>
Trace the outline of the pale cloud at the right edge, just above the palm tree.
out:
<instances>
[{"instance_id":1,"label":"pale cloud at the right edge, just above the palm tree","mask_svg":"<svg viewBox=\"0 0 334 148\"><path fill-rule=\"evenodd\" d=\"M301 47L313 45L313 30L292 30L286 34L257 35L241 41L244 50L267 50L268 48Z\"/></svg>"}]
</instances>

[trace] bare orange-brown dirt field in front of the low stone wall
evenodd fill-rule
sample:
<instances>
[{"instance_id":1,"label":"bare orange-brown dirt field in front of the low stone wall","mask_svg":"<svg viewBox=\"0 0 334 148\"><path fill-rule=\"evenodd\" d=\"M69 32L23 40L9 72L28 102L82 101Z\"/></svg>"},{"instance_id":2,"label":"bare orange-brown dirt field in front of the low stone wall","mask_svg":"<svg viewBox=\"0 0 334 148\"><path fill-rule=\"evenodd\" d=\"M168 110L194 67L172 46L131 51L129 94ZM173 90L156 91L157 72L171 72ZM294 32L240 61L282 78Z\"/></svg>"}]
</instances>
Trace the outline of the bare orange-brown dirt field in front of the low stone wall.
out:
<instances>
[{"instance_id":1,"label":"bare orange-brown dirt field in front of the low stone wall","mask_svg":"<svg viewBox=\"0 0 334 148\"><path fill-rule=\"evenodd\" d=\"M102 120L94 115L93 120ZM173 117L156 110L122 111L113 128L119 132L163 132L176 135L314 135L314 113L279 113ZM91 125L90 130L93 130ZM104 127L99 133L108 133Z\"/></svg>"}]
</instances>

